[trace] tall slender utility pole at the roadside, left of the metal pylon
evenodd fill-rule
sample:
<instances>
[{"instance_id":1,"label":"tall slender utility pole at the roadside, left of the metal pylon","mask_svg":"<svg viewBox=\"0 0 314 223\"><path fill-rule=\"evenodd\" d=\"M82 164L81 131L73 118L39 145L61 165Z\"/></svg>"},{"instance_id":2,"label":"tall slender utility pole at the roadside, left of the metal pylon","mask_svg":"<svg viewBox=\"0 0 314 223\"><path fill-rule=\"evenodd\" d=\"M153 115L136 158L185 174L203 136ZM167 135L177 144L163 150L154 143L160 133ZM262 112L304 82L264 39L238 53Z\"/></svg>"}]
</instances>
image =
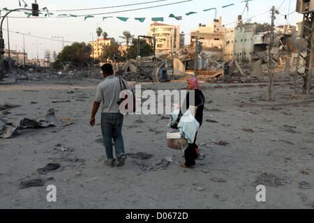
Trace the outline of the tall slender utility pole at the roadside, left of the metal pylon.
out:
<instances>
[{"instance_id":1,"label":"tall slender utility pole at the roadside, left of the metal pylon","mask_svg":"<svg viewBox=\"0 0 314 223\"><path fill-rule=\"evenodd\" d=\"M271 56L271 49L273 48L274 45L274 22L275 22L275 6L271 7L271 31L270 31L270 41L269 41L269 65L268 65L268 76L269 76L269 84L268 84L268 91L267 91L267 97L266 100L271 100L271 94L273 91L273 85L274 85L274 72L271 68L271 61L272 61L272 56Z\"/></svg>"}]
</instances>

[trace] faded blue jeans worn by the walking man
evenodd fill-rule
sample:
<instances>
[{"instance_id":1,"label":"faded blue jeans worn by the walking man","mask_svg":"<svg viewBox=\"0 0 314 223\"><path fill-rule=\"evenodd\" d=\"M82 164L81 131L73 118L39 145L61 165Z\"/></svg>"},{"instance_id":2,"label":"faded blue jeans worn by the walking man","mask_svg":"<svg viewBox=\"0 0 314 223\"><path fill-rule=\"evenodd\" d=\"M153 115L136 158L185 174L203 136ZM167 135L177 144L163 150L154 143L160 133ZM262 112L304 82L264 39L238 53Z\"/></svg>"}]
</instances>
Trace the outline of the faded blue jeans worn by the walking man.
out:
<instances>
[{"instance_id":1,"label":"faded blue jeans worn by the walking man","mask_svg":"<svg viewBox=\"0 0 314 223\"><path fill-rule=\"evenodd\" d=\"M122 125L124 116L121 113L102 113L101 114L101 132L103 134L103 144L105 146L107 161L114 161L112 151L112 139L116 148L117 160L124 152L124 138L122 137Z\"/></svg>"}]
</instances>

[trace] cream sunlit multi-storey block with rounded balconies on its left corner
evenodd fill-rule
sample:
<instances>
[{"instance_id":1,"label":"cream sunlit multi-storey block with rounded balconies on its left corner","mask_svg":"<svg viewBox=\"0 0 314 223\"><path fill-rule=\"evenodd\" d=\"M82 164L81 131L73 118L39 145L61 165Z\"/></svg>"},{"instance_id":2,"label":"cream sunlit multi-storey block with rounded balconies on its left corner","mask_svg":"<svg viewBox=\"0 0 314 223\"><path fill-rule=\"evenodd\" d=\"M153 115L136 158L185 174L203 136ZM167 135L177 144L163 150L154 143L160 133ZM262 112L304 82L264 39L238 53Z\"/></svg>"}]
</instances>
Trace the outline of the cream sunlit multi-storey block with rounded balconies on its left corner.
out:
<instances>
[{"instance_id":1,"label":"cream sunlit multi-storey block with rounded balconies on its left corner","mask_svg":"<svg viewBox=\"0 0 314 223\"><path fill-rule=\"evenodd\" d=\"M156 54L169 53L184 47L184 34L180 33L180 26L153 22L149 25L149 36L156 37Z\"/></svg>"}]
</instances>

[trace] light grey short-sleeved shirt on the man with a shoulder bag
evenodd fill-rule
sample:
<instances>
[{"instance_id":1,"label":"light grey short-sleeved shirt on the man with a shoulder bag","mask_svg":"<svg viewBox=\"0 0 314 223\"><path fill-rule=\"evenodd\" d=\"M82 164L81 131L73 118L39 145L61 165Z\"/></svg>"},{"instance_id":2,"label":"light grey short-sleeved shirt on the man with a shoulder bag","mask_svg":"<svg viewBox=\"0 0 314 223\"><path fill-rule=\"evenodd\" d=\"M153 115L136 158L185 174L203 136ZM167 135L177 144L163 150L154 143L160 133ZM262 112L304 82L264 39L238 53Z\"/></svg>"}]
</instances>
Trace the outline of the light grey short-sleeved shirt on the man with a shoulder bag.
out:
<instances>
[{"instance_id":1,"label":"light grey short-sleeved shirt on the man with a shoulder bag","mask_svg":"<svg viewBox=\"0 0 314 223\"><path fill-rule=\"evenodd\" d=\"M128 83L122 79L124 84L126 84L126 89L130 89ZM121 84L122 90L124 90L124 85ZM103 113L119 113L119 105L117 102L120 100L120 82L119 78L111 75L106 77L106 79L98 84L96 91L96 102L103 102Z\"/></svg>"}]
</instances>

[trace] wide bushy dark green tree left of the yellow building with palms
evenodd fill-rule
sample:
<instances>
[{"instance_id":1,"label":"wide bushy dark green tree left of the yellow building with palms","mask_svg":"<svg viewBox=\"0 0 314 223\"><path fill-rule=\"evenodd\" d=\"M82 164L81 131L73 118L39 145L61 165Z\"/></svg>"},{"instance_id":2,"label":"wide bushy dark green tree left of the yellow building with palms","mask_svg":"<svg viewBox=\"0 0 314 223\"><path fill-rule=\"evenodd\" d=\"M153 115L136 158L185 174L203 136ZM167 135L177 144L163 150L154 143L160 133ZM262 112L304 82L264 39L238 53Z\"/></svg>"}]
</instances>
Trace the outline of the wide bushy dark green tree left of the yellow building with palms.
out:
<instances>
[{"instance_id":1,"label":"wide bushy dark green tree left of the yellow building with palms","mask_svg":"<svg viewBox=\"0 0 314 223\"><path fill-rule=\"evenodd\" d=\"M73 43L66 46L58 54L57 60L52 63L52 67L61 68L62 63L70 62L73 67L83 68L91 63L91 45L85 43Z\"/></svg>"}]
</instances>

